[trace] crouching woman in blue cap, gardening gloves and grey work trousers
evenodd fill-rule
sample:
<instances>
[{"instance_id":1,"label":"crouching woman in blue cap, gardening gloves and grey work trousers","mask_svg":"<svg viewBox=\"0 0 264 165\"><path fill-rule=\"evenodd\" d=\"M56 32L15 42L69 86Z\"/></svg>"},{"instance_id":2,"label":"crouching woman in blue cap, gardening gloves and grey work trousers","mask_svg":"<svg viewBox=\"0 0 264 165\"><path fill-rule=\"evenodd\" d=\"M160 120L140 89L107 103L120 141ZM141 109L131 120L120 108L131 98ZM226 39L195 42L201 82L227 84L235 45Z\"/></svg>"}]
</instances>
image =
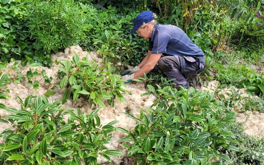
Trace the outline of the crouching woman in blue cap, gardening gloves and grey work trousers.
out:
<instances>
[{"instance_id":1,"label":"crouching woman in blue cap, gardening gloves and grey work trousers","mask_svg":"<svg viewBox=\"0 0 264 165\"><path fill-rule=\"evenodd\" d=\"M131 82L155 69L174 78L177 85L195 87L195 76L206 64L203 51L179 27L157 24L156 17L152 11L145 11L135 18L130 33L137 31L145 40L150 38L148 54L138 66L121 72L121 79Z\"/></svg>"}]
</instances>

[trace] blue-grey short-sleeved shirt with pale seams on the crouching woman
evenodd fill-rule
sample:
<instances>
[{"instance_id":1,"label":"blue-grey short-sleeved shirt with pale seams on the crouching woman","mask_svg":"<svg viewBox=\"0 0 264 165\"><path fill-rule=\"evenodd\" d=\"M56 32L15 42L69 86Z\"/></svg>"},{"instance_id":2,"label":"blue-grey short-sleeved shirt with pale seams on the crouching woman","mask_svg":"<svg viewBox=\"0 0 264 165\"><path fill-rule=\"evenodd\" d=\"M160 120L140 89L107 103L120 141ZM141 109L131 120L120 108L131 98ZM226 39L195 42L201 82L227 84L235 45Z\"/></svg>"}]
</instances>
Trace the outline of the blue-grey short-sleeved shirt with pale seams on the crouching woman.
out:
<instances>
[{"instance_id":1,"label":"blue-grey short-sleeved shirt with pale seams on the crouching woman","mask_svg":"<svg viewBox=\"0 0 264 165\"><path fill-rule=\"evenodd\" d=\"M149 39L149 50L152 54L192 56L205 64L204 52L174 25L155 24Z\"/></svg>"}]
</instances>

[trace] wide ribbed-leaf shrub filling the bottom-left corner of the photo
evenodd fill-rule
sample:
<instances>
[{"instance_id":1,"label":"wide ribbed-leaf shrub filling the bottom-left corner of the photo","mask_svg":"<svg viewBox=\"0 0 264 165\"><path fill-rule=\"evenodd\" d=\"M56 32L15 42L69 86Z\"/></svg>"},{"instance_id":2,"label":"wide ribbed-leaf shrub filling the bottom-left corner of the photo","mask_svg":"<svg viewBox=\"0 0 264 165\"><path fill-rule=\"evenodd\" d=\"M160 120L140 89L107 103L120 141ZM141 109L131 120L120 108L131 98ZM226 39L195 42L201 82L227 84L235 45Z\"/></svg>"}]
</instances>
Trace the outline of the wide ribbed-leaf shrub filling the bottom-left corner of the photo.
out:
<instances>
[{"instance_id":1,"label":"wide ribbed-leaf shrub filling the bottom-left corner of the photo","mask_svg":"<svg viewBox=\"0 0 264 165\"><path fill-rule=\"evenodd\" d=\"M63 110L60 101L49 103L45 96L28 96L21 103L21 110L6 108L13 113L6 115L14 129L6 129L0 137L0 161L6 164L97 164L101 155L111 162L108 155L123 155L118 150L108 150L111 133L115 130L111 123L102 126L96 115L99 109L86 115L77 108ZM65 115L70 114L68 122Z\"/></svg>"}]
</instances>

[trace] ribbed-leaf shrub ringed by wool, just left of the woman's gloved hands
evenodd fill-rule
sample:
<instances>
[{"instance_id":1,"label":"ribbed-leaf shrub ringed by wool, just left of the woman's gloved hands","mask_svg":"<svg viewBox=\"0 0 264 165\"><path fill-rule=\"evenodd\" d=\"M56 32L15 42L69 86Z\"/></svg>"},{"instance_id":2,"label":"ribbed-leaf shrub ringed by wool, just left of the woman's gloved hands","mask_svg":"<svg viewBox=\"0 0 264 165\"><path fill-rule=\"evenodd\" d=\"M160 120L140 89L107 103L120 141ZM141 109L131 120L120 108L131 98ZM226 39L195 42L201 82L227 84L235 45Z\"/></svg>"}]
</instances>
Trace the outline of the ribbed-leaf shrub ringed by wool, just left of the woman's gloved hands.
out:
<instances>
[{"instance_id":1,"label":"ribbed-leaf shrub ringed by wool, just left of the woman's gloved hands","mask_svg":"<svg viewBox=\"0 0 264 165\"><path fill-rule=\"evenodd\" d=\"M75 53L73 60L59 61L62 68L59 68L58 74L62 77L59 82L60 88L66 86L62 97L62 103L65 103L71 95L73 101L78 97L83 97L89 100L90 106L92 104L105 107L100 99L106 99L109 105L114 105L114 99L117 97L119 102L126 100L121 93L129 91L122 88L125 86L120 79L120 75L111 75L111 63L106 63L101 67L96 62L89 62L88 57L82 60ZM107 69L105 68L107 67Z\"/></svg>"}]
</instances>

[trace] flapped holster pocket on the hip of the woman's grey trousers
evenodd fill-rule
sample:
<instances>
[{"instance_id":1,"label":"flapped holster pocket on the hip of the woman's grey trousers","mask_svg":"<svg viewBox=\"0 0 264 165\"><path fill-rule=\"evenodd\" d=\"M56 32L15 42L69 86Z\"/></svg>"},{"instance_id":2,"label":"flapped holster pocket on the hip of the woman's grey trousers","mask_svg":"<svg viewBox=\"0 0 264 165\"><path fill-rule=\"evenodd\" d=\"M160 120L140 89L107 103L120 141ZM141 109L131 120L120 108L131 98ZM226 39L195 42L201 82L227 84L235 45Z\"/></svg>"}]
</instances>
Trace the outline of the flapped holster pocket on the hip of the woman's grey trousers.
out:
<instances>
[{"instance_id":1,"label":"flapped holster pocket on the hip of the woman's grey trousers","mask_svg":"<svg viewBox=\"0 0 264 165\"><path fill-rule=\"evenodd\" d=\"M181 59L181 72L184 75L195 75L198 73L196 60L190 56L183 56Z\"/></svg>"}]
</instances>

